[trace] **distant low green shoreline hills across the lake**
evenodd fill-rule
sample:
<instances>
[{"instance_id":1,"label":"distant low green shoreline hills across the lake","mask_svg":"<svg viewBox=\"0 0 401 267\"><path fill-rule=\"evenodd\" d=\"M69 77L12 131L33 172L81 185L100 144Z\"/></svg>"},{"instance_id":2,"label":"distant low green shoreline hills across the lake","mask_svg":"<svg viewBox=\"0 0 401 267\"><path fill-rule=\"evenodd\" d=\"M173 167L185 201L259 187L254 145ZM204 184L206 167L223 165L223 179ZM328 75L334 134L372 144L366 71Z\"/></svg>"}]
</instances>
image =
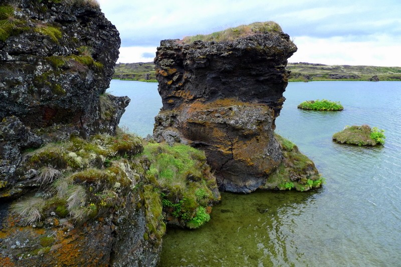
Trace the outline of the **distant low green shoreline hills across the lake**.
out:
<instances>
[{"instance_id":1,"label":"distant low green shoreline hills across the lake","mask_svg":"<svg viewBox=\"0 0 401 267\"><path fill-rule=\"evenodd\" d=\"M401 80L401 67L288 63L290 81L312 80ZM153 62L119 63L114 79L156 81Z\"/></svg>"}]
</instances>

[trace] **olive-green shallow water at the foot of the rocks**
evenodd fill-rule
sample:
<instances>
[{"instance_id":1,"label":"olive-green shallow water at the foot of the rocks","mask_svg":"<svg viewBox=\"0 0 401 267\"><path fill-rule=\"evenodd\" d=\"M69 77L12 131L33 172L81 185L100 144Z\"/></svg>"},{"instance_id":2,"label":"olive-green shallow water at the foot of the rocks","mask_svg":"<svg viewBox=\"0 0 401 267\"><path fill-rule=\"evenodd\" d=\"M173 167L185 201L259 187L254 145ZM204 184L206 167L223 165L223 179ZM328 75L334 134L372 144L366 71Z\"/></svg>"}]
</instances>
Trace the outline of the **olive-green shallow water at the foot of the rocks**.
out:
<instances>
[{"instance_id":1,"label":"olive-green shallow water at the foot of the rocks","mask_svg":"<svg viewBox=\"0 0 401 267\"><path fill-rule=\"evenodd\" d=\"M302 252L292 252L296 247L289 236L297 229L294 218L314 202L316 193L223 193L206 227L168 229L160 265L270 266L298 261Z\"/></svg>"}]
</instances>

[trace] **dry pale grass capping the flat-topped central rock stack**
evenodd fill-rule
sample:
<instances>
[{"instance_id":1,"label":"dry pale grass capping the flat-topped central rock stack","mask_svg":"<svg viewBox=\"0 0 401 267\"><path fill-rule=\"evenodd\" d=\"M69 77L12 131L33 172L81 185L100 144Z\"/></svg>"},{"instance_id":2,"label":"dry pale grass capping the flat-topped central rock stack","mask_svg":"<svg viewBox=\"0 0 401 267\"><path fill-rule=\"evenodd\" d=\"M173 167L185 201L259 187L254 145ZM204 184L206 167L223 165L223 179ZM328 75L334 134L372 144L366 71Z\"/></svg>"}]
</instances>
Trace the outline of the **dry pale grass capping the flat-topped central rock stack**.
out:
<instances>
[{"instance_id":1,"label":"dry pale grass capping the flat-topped central rock stack","mask_svg":"<svg viewBox=\"0 0 401 267\"><path fill-rule=\"evenodd\" d=\"M243 38L258 33L270 33L282 31L279 24L274 21L254 22L249 25L240 25L234 28L228 28L216 31L211 34L197 34L194 36L186 36L182 39L183 43L191 43L195 40L202 41L226 41Z\"/></svg>"}]
</instances>

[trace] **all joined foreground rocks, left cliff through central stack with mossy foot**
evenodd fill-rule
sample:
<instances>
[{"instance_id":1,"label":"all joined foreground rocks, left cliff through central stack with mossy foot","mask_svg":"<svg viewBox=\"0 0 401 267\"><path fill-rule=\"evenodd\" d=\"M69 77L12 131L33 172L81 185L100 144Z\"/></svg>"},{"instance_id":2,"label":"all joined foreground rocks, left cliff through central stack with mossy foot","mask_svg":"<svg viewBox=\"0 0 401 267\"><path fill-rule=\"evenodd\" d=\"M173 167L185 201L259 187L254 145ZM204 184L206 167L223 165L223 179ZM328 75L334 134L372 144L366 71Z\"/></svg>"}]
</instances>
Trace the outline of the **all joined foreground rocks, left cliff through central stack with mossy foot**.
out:
<instances>
[{"instance_id":1,"label":"all joined foreground rocks, left cliff through central stack with mossy foot","mask_svg":"<svg viewBox=\"0 0 401 267\"><path fill-rule=\"evenodd\" d=\"M221 190L319 187L274 133L296 46L274 22L163 40L154 139L105 93L120 38L89 0L0 4L0 265L155 266L166 225L197 228Z\"/></svg>"}]
</instances>

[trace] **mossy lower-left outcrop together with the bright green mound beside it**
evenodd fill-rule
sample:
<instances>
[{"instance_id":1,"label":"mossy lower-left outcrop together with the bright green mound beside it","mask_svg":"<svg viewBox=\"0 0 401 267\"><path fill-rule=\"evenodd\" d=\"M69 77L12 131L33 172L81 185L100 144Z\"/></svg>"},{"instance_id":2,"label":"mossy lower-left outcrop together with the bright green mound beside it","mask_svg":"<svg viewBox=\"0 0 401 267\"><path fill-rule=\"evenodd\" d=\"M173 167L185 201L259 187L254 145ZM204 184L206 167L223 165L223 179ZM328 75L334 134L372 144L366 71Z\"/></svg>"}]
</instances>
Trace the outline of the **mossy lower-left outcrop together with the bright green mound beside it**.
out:
<instances>
[{"instance_id":1,"label":"mossy lower-left outcrop together with the bright green mound beside it","mask_svg":"<svg viewBox=\"0 0 401 267\"><path fill-rule=\"evenodd\" d=\"M203 151L122 132L48 143L16 172L31 193L2 206L0 262L18 266L154 266L166 224L202 226L220 200Z\"/></svg>"}]
</instances>

